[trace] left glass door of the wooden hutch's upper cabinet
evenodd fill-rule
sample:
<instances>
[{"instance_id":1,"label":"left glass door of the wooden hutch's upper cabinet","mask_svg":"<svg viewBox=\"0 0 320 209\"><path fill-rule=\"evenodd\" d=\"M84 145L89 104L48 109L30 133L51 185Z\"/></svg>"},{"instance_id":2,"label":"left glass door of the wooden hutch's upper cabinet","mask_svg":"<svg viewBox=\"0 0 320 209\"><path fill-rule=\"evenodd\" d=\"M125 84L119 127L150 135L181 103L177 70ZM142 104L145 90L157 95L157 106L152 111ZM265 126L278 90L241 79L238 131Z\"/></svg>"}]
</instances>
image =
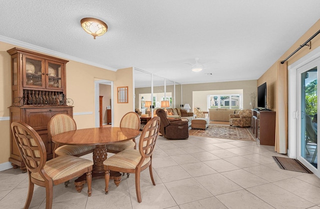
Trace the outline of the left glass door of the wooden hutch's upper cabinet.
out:
<instances>
[{"instance_id":1,"label":"left glass door of the wooden hutch's upper cabinet","mask_svg":"<svg viewBox=\"0 0 320 209\"><path fill-rule=\"evenodd\" d=\"M32 56L22 56L23 87L44 88L44 60Z\"/></svg>"}]
</instances>

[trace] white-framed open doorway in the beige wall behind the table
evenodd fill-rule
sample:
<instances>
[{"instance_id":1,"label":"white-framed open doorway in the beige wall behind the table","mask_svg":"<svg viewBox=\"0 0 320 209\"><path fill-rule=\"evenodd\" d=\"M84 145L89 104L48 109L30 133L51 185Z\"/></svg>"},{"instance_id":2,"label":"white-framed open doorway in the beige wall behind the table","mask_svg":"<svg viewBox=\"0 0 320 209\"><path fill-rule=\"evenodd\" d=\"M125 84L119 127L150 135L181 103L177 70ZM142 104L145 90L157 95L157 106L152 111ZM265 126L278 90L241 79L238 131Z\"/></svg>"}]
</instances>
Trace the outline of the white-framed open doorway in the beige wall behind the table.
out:
<instances>
[{"instance_id":1,"label":"white-framed open doorway in the beige wall behind the table","mask_svg":"<svg viewBox=\"0 0 320 209\"><path fill-rule=\"evenodd\" d=\"M102 125L111 125L113 121L113 82L108 80L94 81L94 121L95 127ZM100 99L102 98L102 99ZM100 106L100 104L102 106ZM100 112L102 111L102 112ZM100 121L100 119L102 121Z\"/></svg>"}]
</instances>

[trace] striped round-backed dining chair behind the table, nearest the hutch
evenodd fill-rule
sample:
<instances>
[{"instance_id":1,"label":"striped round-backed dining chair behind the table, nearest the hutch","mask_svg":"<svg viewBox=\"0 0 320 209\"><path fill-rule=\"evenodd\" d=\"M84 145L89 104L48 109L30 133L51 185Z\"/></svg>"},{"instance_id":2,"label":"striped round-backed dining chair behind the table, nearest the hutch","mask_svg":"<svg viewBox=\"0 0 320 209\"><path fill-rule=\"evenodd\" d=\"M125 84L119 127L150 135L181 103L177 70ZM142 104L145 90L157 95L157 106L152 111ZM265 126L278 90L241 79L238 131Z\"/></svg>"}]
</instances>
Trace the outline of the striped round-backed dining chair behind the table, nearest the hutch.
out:
<instances>
[{"instance_id":1,"label":"striped round-backed dining chair behind the table, nearest the hutch","mask_svg":"<svg viewBox=\"0 0 320 209\"><path fill-rule=\"evenodd\" d=\"M66 131L73 131L76 130L76 124L74 119L63 113L59 113L53 115L48 123L48 131L49 134L52 136L66 132ZM80 157L86 155L88 153L92 153L95 146L91 145L58 145L55 144L53 158L56 156L62 155L71 155Z\"/></svg>"}]
</instances>

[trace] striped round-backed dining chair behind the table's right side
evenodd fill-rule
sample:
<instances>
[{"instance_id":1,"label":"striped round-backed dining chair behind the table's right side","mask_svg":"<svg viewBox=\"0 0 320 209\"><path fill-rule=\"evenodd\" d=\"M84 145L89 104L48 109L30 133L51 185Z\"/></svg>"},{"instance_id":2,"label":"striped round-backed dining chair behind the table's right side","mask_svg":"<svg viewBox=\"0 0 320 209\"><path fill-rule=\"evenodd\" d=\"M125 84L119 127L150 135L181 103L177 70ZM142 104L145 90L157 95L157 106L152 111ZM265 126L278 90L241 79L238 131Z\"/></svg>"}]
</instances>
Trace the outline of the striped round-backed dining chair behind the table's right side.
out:
<instances>
[{"instance_id":1,"label":"striped round-backed dining chair behind the table's right side","mask_svg":"<svg viewBox=\"0 0 320 209\"><path fill-rule=\"evenodd\" d=\"M126 113L120 121L120 128L140 129L140 118L135 112ZM106 145L106 151L109 153L118 153L126 149L136 149L135 139L123 142L117 142Z\"/></svg>"}]
</instances>

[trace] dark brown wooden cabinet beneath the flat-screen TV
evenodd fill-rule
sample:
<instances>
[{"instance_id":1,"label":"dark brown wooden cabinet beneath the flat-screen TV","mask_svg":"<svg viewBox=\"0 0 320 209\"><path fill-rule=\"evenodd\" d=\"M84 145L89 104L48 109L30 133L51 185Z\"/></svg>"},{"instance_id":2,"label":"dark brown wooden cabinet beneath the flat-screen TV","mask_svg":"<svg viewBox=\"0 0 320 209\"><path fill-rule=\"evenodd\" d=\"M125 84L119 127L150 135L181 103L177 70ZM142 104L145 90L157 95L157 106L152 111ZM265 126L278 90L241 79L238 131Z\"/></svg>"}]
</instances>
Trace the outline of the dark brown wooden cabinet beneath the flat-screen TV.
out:
<instances>
[{"instance_id":1,"label":"dark brown wooden cabinet beneath the flat-screen TV","mask_svg":"<svg viewBox=\"0 0 320 209\"><path fill-rule=\"evenodd\" d=\"M269 109L252 112L252 133L260 145L274 146L275 139L275 111Z\"/></svg>"}]
</instances>

